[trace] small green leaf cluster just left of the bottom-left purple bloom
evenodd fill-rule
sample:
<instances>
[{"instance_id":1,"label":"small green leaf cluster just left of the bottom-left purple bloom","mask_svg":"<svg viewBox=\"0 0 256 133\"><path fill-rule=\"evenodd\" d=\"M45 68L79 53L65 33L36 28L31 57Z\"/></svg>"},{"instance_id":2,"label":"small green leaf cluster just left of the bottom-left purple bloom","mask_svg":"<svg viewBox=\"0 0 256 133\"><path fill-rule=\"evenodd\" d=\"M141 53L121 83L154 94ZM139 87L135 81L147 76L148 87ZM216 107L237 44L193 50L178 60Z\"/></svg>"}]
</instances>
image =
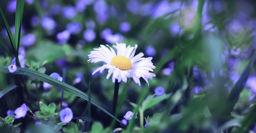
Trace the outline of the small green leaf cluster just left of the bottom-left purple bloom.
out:
<instances>
[{"instance_id":1,"label":"small green leaf cluster just left of the bottom-left purple bloom","mask_svg":"<svg viewBox=\"0 0 256 133\"><path fill-rule=\"evenodd\" d=\"M40 102L39 105L40 111L35 112L36 117L38 117L39 119L48 119L54 116L56 105L53 102L48 106L43 102Z\"/></svg>"}]
</instances>

